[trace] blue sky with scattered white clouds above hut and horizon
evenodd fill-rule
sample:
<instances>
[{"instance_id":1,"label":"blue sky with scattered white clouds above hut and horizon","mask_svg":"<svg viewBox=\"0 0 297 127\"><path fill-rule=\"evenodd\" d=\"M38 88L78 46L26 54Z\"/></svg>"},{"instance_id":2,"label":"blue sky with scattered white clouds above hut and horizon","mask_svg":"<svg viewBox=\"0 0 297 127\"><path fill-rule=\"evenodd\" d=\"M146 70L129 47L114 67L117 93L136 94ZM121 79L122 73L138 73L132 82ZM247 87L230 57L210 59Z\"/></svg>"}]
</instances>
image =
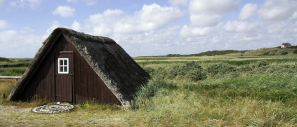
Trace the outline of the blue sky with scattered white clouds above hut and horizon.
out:
<instances>
[{"instance_id":1,"label":"blue sky with scattered white clouds above hut and horizon","mask_svg":"<svg viewBox=\"0 0 297 127\"><path fill-rule=\"evenodd\" d=\"M296 0L0 0L0 57L34 58L57 27L131 57L297 45Z\"/></svg>"}]
</instances>

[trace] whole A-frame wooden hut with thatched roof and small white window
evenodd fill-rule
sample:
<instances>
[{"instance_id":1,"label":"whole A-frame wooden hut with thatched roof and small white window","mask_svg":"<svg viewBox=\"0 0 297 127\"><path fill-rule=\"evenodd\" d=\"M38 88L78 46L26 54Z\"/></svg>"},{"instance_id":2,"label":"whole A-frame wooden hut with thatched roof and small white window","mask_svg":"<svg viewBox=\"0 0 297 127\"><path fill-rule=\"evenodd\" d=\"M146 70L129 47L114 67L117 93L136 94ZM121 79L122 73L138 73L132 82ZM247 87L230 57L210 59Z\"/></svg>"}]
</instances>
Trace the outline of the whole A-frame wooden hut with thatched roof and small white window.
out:
<instances>
[{"instance_id":1,"label":"whole A-frame wooden hut with thatched roof and small white window","mask_svg":"<svg viewBox=\"0 0 297 127\"><path fill-rule=\"evenodd\" d=\"M128 105L150 78L107 37L57 28L43 44L7 100Z\"/></svg>"}]
</instances>

